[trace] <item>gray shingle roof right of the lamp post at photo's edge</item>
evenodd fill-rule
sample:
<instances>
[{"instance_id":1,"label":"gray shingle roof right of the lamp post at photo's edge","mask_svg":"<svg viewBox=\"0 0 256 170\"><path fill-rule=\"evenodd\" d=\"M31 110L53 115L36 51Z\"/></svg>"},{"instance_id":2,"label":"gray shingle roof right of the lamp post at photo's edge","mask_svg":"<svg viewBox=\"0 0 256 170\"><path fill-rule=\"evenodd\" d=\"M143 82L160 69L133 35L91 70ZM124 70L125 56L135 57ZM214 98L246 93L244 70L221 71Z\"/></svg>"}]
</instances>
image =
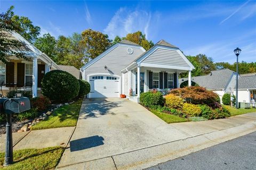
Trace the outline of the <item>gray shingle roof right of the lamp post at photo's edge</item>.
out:
<instances>
[{"instance_id":1,"label":"gray shingle roof right of the lamp post at photo's edge","mask_svg":"<svg viewBox=\"0 0 256 170\"><path fill-rule=\"evenodd\" d=\"M256 75L241 76L238 79L238 89L256 89Z\"/></svg>"}]
</instances>

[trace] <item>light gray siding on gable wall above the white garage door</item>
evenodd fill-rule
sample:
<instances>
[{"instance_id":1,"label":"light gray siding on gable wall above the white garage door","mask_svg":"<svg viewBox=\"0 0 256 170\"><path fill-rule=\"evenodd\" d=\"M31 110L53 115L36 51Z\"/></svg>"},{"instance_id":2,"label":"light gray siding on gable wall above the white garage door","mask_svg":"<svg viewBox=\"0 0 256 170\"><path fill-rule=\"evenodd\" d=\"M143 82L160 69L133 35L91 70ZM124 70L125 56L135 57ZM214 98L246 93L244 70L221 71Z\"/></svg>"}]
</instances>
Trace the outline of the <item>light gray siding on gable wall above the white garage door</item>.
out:
<instances>
[{"instance_id":1,"label":"light gray siding on gable wall above the white garage door","mask_svg":"<svg viewBox=\"0 0 256 170\"><path fill-rule=\"evenodd\" d=\"M132 54L127 53L128 48L133 49ZM87 75L92 73L110 73L122 76L121 70L132 63L142 53L143 51L139 46L119 45L85 69L85 80L87 79ZM105 65L108 68L107 70L105 69Z\"/></svg>"}]
</instances>

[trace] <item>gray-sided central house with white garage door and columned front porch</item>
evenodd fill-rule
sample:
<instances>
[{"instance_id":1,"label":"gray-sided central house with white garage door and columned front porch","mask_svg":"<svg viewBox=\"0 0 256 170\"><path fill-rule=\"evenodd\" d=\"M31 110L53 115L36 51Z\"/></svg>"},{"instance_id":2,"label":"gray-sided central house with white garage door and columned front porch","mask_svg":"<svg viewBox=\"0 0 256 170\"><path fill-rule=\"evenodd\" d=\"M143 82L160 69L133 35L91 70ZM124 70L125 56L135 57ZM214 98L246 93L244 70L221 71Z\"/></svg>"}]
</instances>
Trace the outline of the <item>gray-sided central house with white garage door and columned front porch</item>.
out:
<instances>
[{"instance_id":1,"label":"gray-sided central house with white garage door and columned front porch","mask_svg":"<svg viewBox=\"0 0 256 170\"><path fill-rule=\"evenodd\" d=\"M147 51L138 44L123 40L85 64L81 71L83 80L91 84L87 97L119 97L124 94L138 102L141 92L177 88L179 73L188 71L191 78L193 69L181 50L164 40Z\"/></svg>"}]
</instances>

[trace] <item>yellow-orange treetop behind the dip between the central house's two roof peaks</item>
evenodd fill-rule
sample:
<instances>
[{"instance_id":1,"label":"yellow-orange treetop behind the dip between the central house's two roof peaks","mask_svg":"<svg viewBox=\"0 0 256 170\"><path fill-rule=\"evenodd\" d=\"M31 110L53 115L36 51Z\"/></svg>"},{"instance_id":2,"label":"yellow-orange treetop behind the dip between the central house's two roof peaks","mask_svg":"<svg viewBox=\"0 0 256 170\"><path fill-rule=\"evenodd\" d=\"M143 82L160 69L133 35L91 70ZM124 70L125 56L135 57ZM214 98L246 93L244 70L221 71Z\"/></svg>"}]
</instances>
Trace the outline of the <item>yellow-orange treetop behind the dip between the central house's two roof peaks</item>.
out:
<instances>
[{"instance_id":1,"label":"yellow-orange treetop behind the dip between the central house's two roof peaks","mask_svg":"<svg viewBox=\"0 0 256 170\"><path fill-rule=\"evenodd\" d=\"M125 37L126 40L132 41L133 43L139 44L144 49L148 50L149 48L154 46L152 41L148 41L146 39L146 35L142 34L141 31L128 33Z\"/></svg>"}]
</instances>

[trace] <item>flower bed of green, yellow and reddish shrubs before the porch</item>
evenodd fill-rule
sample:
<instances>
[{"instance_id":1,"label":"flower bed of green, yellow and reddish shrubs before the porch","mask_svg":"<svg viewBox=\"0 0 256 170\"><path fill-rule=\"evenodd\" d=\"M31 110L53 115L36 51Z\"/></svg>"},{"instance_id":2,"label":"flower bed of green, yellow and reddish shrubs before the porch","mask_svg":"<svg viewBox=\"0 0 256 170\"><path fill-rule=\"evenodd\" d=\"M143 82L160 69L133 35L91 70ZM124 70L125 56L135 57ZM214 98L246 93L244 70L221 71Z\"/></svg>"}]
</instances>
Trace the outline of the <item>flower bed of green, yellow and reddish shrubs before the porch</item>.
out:
<instances>
[{"instance_id":1,"label":"flower bed of green, yellow and reddish shrubs before the porch","mask_svg":"<svg viewBox=\"0 0 256 170\"><path fill-rule=\"evenodd\" d=\"M230 116L228 109L220 105L219 96L203 87L173 89L165 97L156 90L145 92L140 96L140 103L150 111L188 118L188 121L212 120Z\"/></svg>"}]
</instances>

